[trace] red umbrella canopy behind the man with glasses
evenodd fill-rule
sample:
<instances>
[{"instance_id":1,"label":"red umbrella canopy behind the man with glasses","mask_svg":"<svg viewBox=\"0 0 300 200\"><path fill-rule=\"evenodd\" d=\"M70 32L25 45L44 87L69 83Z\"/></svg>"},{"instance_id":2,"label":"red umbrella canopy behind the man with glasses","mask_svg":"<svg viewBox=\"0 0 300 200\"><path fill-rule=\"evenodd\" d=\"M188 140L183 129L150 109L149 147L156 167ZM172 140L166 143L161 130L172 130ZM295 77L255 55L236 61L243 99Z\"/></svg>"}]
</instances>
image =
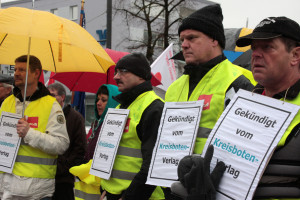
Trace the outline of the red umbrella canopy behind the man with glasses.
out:
<instances>
[{"instance_id":1,"label":"red umbrella canopy behind the man with glasses","mask_svg":"<svg viewBox=\"0 0 300 200\"><path fill-rule=\"evenodd\" d=\"M115 51L105 49L112 60L117 63L123 56L129 54L128 52ZM93 72L65 72L56 73L50 78L57 80L67 86L71 91L97 93L102 84L116 85L114 78L115 65L111 66L107 73L93 73ZM160 85L161 82L152 75L151 83L153 86Z\"/></svg>"}]
</instances>

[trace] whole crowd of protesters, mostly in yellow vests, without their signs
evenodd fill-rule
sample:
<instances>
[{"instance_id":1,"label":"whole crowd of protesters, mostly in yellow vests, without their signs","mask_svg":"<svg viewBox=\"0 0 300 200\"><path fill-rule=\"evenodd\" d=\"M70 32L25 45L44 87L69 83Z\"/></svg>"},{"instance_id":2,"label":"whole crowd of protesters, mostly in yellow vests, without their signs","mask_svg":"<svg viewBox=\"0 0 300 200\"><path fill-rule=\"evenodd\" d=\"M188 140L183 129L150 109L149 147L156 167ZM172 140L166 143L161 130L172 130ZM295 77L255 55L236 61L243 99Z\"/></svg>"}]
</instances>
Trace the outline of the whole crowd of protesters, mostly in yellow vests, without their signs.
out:
<instances>
[{"instance_id":1,"label":"whole crowd of protesters, mostly in yellow vests, without their signs","mask_svg":"<svg viewBox=\"0 0 300 200\"><path fill-rule=\"evenodd\" d=\"M116 63L116 86L104 84L96 93L95 118L87 134L84 118L65 103L64 86L54 83L46 88L39 82L39 58L16 58L14 77L0 76L0 113L20 114L16 133L21 142L12 173L0 172L0 199L216 199L226 163L218 162L210 173L213 146L205 156L184 157L178 165L179 181L171 188L146 184L164 102L209 96L194 154L202 154L210 132L239 89L300 105L300 26L287 17L268 17L251 34L240 37L236 45L250 45L253 51L252 73L232 64L223 53L219 4L183 19L178 35L186 65L165 98L153 91L146 57L138 52L128 54ZM89 169L108 108L128 109L130 120L106 180L90 176ZM254 199L300 198L299 116L297 113L278 143Z\"/></svg>"}]
</instances>

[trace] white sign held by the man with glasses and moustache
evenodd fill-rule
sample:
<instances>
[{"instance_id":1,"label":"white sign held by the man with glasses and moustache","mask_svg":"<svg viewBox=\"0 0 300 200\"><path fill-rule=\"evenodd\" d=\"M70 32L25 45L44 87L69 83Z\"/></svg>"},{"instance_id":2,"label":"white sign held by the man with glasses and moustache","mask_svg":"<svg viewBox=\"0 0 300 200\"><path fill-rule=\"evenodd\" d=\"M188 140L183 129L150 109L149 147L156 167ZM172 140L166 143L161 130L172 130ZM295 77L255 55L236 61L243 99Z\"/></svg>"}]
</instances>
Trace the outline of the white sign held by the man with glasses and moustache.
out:
<instances>
[{"instance_id":1,"label":"white sign held by the man with glasses and moustache","mask_svg":"<svg viewBox=\"0 0 300 200\"><path fill-rule=\"evenodd\" d=\"M109 179L129 110L109 108L96 144L90 174Z\"/></svg>"}]
</instances>

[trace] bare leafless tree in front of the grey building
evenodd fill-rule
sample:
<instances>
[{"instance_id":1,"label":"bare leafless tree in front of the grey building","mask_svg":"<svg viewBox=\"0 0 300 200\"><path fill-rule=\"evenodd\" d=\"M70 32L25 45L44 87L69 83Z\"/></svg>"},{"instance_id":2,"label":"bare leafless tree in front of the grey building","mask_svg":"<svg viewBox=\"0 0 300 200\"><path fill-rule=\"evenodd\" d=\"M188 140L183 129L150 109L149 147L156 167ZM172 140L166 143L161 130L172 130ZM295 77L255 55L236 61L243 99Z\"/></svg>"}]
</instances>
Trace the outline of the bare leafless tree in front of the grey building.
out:
<instances>
[{"instance_id":1,"label":"bare leafless tree in front of the grey building","mask_svg":"<svg viewBox=\"0 0 300 200\"><path fill-rule=\"evenodd\" d=\"M125 3L126 2L126 3ZM131 2L131 3L128 3ZM146 57L153 62L154 49L158 42L163 41L163 49L169 46L170 40L177 37L177 31L172 31L175 24L181 19L173 13L180 13L180 6L185 0L116 0L116 13L124 14L125 21L140 24L147 31L146 40L132 40L129 49L146 48ZM175 27L176 28L176 27Z\"/></svg>"}]
</instances>

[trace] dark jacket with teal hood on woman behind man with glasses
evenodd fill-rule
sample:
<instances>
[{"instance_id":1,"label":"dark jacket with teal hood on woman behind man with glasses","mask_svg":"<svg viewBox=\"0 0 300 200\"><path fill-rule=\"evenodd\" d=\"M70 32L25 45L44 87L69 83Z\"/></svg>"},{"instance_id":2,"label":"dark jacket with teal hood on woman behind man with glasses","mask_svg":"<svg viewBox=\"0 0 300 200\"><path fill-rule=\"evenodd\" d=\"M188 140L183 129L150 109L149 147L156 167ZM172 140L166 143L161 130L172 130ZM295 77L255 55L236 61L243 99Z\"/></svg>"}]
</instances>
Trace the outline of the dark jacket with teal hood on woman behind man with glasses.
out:
<instances>
[{"instance_id":1,"label":"dark jacket with teal hood on woman behind man with glasses","mask_svg":"<svg viewBox=\"0 0 300 200\"><path fill-rule=\"evenodd\" d=\"M108 101L107 101L105 110L103 111L102 115L98 115L97 97L100 93L101 87L107 88ZM115 85L110 85L110 84L104 84L101 87L99 87L99 89L96 93L96 96L95 96L95 105L94 105L95 120L93 121L91 128L89 130L89 133L87 135L87 151L86 151L85 158L84 158L85 162L88 162L90 159L93 159L96 143L97 143L100 129L102 126L102 122L104 120L104 117L107 113L108 108L115 108L118 105L118 102L112 98L113 96L120 94L118 87Z\"/></svg>"}]
</instances>

